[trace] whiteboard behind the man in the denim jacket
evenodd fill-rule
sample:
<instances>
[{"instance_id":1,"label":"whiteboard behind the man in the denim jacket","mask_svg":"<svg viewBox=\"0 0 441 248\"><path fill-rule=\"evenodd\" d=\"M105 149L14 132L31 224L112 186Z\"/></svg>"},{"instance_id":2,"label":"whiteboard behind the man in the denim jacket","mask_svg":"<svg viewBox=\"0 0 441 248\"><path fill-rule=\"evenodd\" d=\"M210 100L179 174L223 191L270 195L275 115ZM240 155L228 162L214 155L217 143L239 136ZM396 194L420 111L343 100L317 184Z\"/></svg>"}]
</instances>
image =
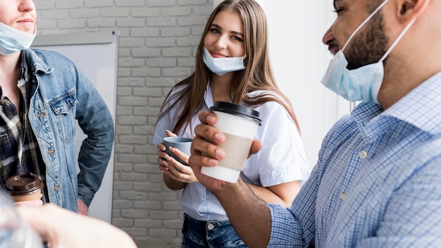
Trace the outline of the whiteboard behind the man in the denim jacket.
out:
<instances>
[{"instance_id":1,"label":"whiteboard behind the man in the denim jacket","mask_svg":"<svg viewBox=\"0 0 441 248\"><path fill-rule=\"evenodd\" d=\"M37 35L32 47L58 51L70 58L97 88L116 119L116 80L118 78L119 32L85 32ZM77 124L75 147L78 152L85 134ZM101 187L89 206L89 216L111 223L113 199L113 149ZM77 166L77 170L79 170Z\"/></svg>"}]
</instances>

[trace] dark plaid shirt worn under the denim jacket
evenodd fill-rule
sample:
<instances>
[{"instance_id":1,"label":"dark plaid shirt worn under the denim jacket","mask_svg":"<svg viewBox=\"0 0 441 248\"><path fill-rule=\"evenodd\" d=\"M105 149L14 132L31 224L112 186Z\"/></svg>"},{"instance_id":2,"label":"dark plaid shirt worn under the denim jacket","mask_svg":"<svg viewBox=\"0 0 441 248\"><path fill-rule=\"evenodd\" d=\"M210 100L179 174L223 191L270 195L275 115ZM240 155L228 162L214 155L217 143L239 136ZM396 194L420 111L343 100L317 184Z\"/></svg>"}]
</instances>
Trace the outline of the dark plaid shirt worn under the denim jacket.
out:
<instances>
[{"instance_id":1,"label":"dark plaid shirt worn under the denim jacket","mask_svg":"<svg viewBox=\"0 0 441 248\"><path fill-rule=\"evenodd\" d=\"M30 127L27 113L30 102L29 70L24 53L21 56L21 77L17 87L20 89L20 111L3 95L0 87L0 183L20 173L32 172L41 175L43 182L45 166L39 151L37 139ZM46 185L46 183L44 183ZM45 191L45 190L44 190ZM44 194L44 199L46 199ZM46 201L47 202L47 201Z\"/></svg>"}]
</instances>

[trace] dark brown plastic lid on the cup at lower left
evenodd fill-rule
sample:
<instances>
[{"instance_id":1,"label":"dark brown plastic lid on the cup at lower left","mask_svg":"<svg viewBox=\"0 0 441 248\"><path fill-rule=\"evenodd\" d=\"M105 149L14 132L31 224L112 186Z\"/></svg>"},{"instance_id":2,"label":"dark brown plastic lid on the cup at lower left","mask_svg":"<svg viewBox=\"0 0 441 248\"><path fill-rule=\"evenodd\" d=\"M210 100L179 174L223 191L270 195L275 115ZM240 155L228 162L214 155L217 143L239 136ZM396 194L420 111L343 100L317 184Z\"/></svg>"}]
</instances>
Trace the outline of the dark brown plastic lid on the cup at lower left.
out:
<instances>
[{"instance_id":1,"label":"dark brown plastic lid on the cup at lower left","mask_svg":"<svg viewBox=\"0 0 441 248\"><path fill-rule=\"evenodd\" d=\"M38 175L26 173L13 175L6 180L5 190L11 195L32 194L37 190L42 190L43 182Z\"/></svg>"}]
</instances>

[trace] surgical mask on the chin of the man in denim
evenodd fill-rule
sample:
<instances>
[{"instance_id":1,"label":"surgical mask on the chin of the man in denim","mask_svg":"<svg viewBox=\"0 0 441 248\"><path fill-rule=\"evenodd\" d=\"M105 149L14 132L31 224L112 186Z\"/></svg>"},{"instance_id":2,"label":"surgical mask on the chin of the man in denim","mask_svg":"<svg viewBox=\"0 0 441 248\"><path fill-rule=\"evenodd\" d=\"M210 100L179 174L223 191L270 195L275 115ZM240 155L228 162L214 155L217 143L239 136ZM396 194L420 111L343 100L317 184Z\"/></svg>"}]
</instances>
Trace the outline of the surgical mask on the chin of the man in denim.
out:
<instances>
[{"instance_id":1,"label":"surgical mask on the chin of the man in denim","mask_svg":"<svg viewBox=\"0 0 441 248\"><path fill-rule=\"evenodd\" d=\"M34 41L35 34L37 32L31 35L0 23L0 54L11 56L18 51L28 49Z\"/></svg>"}]
</instances>

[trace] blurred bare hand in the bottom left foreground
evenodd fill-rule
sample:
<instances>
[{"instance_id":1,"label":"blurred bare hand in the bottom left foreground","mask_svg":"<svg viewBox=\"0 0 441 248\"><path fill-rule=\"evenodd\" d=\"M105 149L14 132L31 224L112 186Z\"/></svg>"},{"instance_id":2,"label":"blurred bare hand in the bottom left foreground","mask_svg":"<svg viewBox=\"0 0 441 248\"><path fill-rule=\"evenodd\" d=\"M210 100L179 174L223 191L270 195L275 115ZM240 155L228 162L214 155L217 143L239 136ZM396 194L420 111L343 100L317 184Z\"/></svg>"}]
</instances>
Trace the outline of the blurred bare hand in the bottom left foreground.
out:
<instances>
[{"instance_id":1,"label":"blurred bare hand in the bottom left foreground","mask_svg":"<svg viewBox=\"0 0 441 248\"><path fill-rule=\"evenodd\" d=\"M20 217L49 242L51 248L137 247L123 230L97 218L62 209L54 204L18 206Z\"/></svg>"}]
</instances>

